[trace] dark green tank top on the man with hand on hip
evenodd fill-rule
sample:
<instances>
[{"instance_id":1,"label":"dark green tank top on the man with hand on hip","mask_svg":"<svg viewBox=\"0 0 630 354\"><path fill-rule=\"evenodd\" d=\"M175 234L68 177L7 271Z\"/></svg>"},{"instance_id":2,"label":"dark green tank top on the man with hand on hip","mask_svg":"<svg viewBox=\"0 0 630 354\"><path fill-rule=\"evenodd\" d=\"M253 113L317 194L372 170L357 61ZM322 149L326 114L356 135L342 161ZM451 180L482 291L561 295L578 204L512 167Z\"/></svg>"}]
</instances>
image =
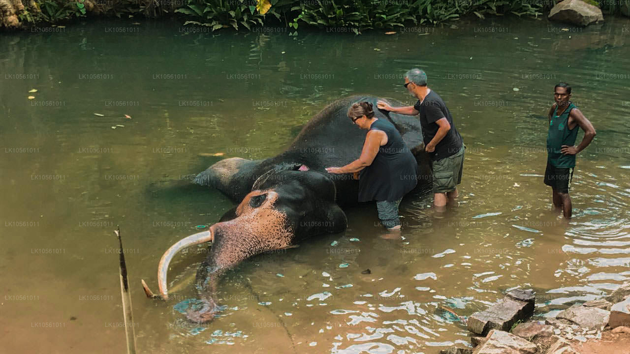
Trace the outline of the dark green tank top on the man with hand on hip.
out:
<instances>
[{"instance_id":1,"label":"dark green tank top on the man with hand on hip","mask_svg":"<svg viewBox=\"0 0 630 354\"><path fill-rule=\"evenodd\" d=\"M547 133L547 161L555 167L575 167L575 155L563 155L562 152L560 152L563 145L575 145L575 139L578 137L578 130L580 130L578 125L573 127L573 129L568 128L569 114L573 108L577 108L577 106L570 102L566 110L558 116L556 115L558 106L556 106L553 115L551 115L549 133Z\"/></svg>"}]
</instances>

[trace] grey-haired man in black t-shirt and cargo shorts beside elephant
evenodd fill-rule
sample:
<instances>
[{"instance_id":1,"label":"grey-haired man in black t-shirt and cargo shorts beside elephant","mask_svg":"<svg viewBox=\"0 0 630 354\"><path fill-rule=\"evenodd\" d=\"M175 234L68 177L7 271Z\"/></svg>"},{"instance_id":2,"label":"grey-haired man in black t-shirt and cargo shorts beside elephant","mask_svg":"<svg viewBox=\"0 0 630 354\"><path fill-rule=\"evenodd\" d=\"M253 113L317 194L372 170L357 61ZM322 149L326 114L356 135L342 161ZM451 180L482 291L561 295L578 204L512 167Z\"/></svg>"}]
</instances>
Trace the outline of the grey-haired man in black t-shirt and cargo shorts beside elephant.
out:
<instances>
[{"instance_id":1,"label":"grey-haired man in black t-shirt and cargo shorts beside elephant","mask_svg":"<svg viewBox=\"0 0 630 354\"><path fill-rule=\"evenodd\" d=\"M392 107L378 101L381 110L404 115L420 113L425 151L433 161L433 204L444 208L457 198L457 185L462 181L464 143L453 123L453 117L442 98L427 87L427 74L418 68L406 72L404 87L418 98L413 106Z\"/></svg>"}]
</instances>

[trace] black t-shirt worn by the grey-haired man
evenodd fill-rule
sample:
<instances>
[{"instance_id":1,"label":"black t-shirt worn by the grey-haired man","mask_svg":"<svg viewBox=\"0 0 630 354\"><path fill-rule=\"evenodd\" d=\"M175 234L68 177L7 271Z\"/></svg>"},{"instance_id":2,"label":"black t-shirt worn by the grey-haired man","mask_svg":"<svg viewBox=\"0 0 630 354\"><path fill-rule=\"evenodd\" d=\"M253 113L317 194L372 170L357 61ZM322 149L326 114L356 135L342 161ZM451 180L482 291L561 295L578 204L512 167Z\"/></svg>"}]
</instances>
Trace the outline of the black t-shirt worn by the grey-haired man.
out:
<instances>
[{"instance_id":1,"label":"black t-shirt worn by the grey-haired man","mask_svg":"<svg viewBox=\"0 0 630 354\"><path fill-rule=\"evenodd\" d=\"M429 153L433 161L457 154L462 148L462 137L459 135L459 132L457 132L457 128L455 128L455 124L453 123L453 117L450 115L449 108L446 108L446 104L442 98L435 93L435 91L431 90L429 94L425 96L425 100L423 100L422 103L418 100L418 102L413 105L413 108L420 112L420 125L422 126L422 137L425 146L431 142L435 134L437 134L438 128L440 128L435 122L441 118L446 118L446 120L449 121L449 132L438 142L437 146L435 146L435 151Z\"/></svg>"}]
</instances>

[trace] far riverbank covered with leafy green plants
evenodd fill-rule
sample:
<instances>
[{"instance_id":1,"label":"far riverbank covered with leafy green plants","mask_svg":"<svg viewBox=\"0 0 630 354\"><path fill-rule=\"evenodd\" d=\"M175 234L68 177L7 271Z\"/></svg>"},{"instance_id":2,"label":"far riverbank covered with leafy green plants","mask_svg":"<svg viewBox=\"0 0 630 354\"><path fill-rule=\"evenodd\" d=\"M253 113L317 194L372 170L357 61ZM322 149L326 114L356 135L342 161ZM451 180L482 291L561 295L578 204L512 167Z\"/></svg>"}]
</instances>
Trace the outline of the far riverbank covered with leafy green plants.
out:
<instances>
[{"instance_id":1,"label":"far riverbank covered with leafy green plants","mask_svg":"<svg viewBox=\"0 0 630 354\"><path fill-rule=\"evenodd\" d=\"M359 34L437 25L465 17L482 21L504 15L545 18L554 4L554 0L0 0L0 28L54 28L95 18L128 18L134 25L147 18L176 18L184 25L203 26L210 31L273 27L295 34L298 28L309 26L346 28ZM630 0L606 2L600 7L605 15L630 15Z\"/></svg>"}]
</instances>

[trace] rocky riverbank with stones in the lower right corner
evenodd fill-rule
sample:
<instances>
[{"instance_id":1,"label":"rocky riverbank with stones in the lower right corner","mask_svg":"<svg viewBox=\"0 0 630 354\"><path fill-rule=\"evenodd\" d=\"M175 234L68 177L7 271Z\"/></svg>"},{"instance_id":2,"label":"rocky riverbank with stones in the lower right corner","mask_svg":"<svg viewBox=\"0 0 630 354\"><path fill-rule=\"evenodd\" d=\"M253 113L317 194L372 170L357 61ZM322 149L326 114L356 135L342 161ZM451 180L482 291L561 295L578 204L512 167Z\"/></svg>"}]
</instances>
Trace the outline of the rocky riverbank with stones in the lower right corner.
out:
<instances>
[{"instance_id":1,"label":"rocky riverbank with stones in the lower right corner","mask_svg":"<svg viewBox=\"0 0 630 354\"><path fill-rule=\"evenodd\" d=\"M630 282L612 294L573 304L555 316L531 317L536 299L512 290L484 311L462 317L472 348L440 354L624 354L630 347ZM481 335L481 336L478 336Z\"/></svg>"}]
</instances>

